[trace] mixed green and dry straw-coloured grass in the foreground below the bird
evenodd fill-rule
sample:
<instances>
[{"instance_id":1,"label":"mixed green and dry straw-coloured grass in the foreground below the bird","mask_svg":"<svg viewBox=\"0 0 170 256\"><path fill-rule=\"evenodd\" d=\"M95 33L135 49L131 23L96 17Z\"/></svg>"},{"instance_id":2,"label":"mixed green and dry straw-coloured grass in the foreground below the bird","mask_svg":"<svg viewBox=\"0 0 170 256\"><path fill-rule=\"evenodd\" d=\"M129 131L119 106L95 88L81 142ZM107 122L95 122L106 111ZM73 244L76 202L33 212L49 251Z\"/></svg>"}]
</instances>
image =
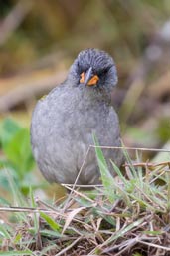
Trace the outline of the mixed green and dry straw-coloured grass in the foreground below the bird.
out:
<instances>
[{"instance_id":1,"label":"mixed green and dry straw-coloured grass in the foreground below the bird","mask_svg":"<svg viewBox=\"0 0 170 256\"><path fill-rule=\"evenodd\" d=\"M125 173L112 163L112 177L100 147L95 150L103 186L94 190L66 186L72 190L66 200L47 203L35 201L30 189L26 203L10 182L20 207L0 209L13 216L1 223L0 255L170 254L170 163L143 163L136 152L132 164L124 150Z\"/></svg>"}]
</instances>

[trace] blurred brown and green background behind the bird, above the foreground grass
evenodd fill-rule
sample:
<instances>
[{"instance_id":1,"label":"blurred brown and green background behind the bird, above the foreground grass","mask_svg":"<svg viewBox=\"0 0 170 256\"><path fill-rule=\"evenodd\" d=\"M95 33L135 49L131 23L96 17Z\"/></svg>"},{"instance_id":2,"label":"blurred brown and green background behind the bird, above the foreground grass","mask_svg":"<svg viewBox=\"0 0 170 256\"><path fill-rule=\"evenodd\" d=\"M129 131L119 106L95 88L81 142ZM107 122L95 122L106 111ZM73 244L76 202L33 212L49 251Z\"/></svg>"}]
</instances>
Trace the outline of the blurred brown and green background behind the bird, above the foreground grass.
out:
<instances>
[{"instance_id":1,"label":"blurred brown and green background behind the bird, above the foreground grass","mask_svg":"<svg viewBox=\"0 0 170 256\"><path fill-rule=\"evenodd\" d=\"M112 102L125 145L169 146L169 0L1 1L1 200L9 189L6 170L24 194L30 184L43 186L30 148L31 113L88 47L109 52L117 65Z\"/></svg>"}]
</instances>

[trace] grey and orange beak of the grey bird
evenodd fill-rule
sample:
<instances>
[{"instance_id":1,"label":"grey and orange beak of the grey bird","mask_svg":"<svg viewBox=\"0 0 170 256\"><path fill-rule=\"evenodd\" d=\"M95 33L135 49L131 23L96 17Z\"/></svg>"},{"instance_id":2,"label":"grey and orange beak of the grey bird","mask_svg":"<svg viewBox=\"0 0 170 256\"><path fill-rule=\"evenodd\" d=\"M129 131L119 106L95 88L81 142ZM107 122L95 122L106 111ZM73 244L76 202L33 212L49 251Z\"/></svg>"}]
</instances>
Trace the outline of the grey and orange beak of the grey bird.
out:
<instances>
[{"instance_id":1,"label":"grey and orange beak of the grey bird","mask_svg":"<svg viewBox=\"0 0 170 256\"><path fill-rule=\"evenodd\" d=\"M90 67L86 72L81 74L80 83L85 86L94 86L98 82L99 78L97 75L93 75L92 68Z\"/></svg>"}]
</instances>

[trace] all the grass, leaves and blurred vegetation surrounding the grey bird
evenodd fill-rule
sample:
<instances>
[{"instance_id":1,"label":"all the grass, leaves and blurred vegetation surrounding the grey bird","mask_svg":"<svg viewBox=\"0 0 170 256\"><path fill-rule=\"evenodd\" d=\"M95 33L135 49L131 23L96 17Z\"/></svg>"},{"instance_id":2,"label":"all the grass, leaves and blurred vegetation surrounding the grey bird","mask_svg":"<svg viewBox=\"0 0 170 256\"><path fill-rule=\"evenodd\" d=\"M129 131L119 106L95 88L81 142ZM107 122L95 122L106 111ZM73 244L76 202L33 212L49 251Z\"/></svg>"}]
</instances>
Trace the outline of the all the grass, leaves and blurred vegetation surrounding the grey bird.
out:
<instances>
[{"instance_id":1,"label":"all the grass, leaves and blurred vegetation surrounding the grey bird","mask_svg":"<svg viewBox=\"0 0 170 256\"><path fill-rule=\"evenodd\" d=\"M0 256L170 255L169 13L168 0L1 1ZM113 178L95 139L102 186L66 196L37 171L29 125L87 47L113 56L123 143L143 149L124 146Z\"/></svg>"}]
</instances>

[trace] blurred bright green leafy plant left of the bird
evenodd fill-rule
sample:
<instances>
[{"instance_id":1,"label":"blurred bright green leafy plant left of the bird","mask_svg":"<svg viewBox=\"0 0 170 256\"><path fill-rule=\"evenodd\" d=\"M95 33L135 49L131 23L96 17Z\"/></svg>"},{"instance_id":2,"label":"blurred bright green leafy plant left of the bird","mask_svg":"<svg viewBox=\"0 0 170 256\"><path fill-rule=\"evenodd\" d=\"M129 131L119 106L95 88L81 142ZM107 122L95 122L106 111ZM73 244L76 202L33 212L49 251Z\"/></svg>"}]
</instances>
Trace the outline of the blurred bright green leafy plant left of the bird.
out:
<instances>
[{"instance_id":1,"label":"blurred bright green leafy plant left of the bird","mask_svg":"<svg viewBox=\"0 0 170 256\"><path fill-rule=\"evenodd\" d=\"M30 182L34 186L33 175L30 171L34 167L34 159L31 152L29 129L22 128L11 119L6 119L0 126L0 142L4 157L0 161L0 184L6 191L9 183L5 175L5 169L10 171L16 184L27 194ZM30 182L28 182L30 180Z\"/></svg>"}]
</instances>

